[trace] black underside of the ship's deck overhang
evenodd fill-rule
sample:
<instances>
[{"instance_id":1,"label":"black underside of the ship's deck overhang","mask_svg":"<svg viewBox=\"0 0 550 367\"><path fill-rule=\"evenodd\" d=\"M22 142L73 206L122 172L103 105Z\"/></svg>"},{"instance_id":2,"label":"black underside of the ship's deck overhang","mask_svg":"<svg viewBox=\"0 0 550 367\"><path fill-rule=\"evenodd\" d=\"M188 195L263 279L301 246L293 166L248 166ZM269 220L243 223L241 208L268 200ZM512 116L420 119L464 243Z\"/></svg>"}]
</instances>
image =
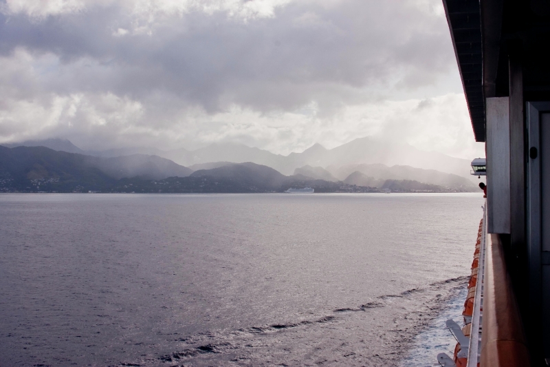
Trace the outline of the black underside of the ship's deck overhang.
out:
<instances>
[{"instance_id":1,"label":"black underside of the ship's deck overhang","mask_svg":"<svg viewBox=\"0 0 550 367\"><path fill-rule=\"evenodd\" d=\"M443 0L476 141L485 98L509 95L509 54L522 65L523 101L550 101L549 0Z\"/></svg>"}]
</instances>

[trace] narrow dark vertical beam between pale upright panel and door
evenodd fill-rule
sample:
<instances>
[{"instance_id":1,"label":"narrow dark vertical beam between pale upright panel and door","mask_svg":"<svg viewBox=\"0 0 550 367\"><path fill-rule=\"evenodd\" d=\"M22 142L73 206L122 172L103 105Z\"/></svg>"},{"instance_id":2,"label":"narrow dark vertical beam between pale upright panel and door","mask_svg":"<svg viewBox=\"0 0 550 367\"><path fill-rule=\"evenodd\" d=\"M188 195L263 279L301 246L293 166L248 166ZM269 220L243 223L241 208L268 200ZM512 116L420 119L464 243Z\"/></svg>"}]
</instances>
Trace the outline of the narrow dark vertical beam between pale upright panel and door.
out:
<instances>
[{"instance_id":1,"label":"narrow dark vertical beam between pale upright panel and door","mask_svg":"<svg viewBox=\"0 0 550 367\"><path fill-rule=\"evenodd\" d=\"M511 255L525 259L525 138L523 123L523 72L520 48L510 48L510 245ZM516 264L522 266L523 264ZM520 271L520 269L510 269Z\"/></svg>"}]
</instances>

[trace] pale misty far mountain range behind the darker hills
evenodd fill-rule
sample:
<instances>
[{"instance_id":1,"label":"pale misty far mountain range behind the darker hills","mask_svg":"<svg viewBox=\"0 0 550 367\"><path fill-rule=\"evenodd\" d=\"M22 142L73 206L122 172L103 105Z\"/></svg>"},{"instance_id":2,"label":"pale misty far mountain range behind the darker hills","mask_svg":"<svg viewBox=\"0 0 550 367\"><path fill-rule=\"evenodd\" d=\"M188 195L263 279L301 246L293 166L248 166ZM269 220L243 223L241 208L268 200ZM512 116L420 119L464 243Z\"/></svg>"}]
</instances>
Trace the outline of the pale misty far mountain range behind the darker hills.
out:
<instances>
[{"instance_id":1,"label":"pale misty far mountain range behind the darker hills","mask_svg":"<svg viewBox=\"0 0 550 367\"><path fill-rule=\"evenodd\" d=\"M61 139L50 139L60 140ZM62 145L61 143L48 143L50 140L43 140L52 149L71 151L83 154L78 147ZM68 143L69 140L64 140ZM39 144L41 142L34 142ZM14 146L14 144L10 145ZM44 145L47 146L47 145ZM78 149L78 151L74 151ZM208 147L202 147L193 151L186 149L162 150L157 148L123 148L110 149L108 151L87 151L85 154L92 156L124 156L130 154L148 154L170 159L179 165L190 167L212 162L254 162L258 165L272 167L284 175L292 175L298 168L304 166L322 167L331 172L333 176L344 180L347 175L338 176L334 171L340 167L350 165L373 165L382 164L386 166L410 166L421 169L432 169L448 174L455 174L476 182L476 178L470 176L470 160L445 156L437 152L420 151L408 144L398 144L386 140L379 140L372 137L357 138L351 142L340 145L333 149L326 149L322 145L315 144L301 153L291 153L288 156L272 154L270 151L248 147L238 143L214 143ZM206 166L205 166L206 167ZM367 175L369 176L369 175Z\"/></svg>"}]
</instances>

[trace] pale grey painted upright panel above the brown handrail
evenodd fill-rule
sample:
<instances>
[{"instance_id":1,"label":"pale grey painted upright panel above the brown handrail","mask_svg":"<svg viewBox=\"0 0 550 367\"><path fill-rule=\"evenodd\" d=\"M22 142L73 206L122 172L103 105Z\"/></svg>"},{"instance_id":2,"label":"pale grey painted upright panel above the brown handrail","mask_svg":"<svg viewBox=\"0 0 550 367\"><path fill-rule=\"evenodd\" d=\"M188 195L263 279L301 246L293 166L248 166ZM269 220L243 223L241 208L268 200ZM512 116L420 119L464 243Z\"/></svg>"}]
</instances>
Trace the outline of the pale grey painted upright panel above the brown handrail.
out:
<instances>
[{"instance_id":1,"label":"pale grey painted upright panel above the brown handrail","mask_svg":"<svg viewBox=\"0 0 550 367\"><path fill-rule=\"evenodd\" d=\"M487 232L510 233L509 98L486 100Z\"/></svg>"}]
</instances>

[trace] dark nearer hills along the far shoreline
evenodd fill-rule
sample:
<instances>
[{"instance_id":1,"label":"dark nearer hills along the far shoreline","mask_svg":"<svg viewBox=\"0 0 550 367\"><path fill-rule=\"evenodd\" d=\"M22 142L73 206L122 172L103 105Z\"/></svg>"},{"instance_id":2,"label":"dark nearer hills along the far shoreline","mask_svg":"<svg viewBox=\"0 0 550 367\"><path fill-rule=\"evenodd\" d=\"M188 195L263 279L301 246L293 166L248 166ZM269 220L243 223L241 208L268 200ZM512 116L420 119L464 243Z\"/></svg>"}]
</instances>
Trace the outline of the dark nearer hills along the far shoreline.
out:
<instances>
[{"instance_id":1,"label":"dark nearer hills along the far shoreline","mask_svg":"<svg viewBox=\"0 0 550 367\"><path fill-rule=\"evenodd\" d=\"M191 171L170 160L142 154L102 158L46 147L0 147L0 192L265 193L283 192L289 187L313 187L317 193L380 192L384 188L452 191L415 180L385 180L377 188L373 182L351 182L353 175L349 182L303 174L285 176L252 162ZM362 173L354 174L364 179Z\"/></svg>"}]
</instances>

